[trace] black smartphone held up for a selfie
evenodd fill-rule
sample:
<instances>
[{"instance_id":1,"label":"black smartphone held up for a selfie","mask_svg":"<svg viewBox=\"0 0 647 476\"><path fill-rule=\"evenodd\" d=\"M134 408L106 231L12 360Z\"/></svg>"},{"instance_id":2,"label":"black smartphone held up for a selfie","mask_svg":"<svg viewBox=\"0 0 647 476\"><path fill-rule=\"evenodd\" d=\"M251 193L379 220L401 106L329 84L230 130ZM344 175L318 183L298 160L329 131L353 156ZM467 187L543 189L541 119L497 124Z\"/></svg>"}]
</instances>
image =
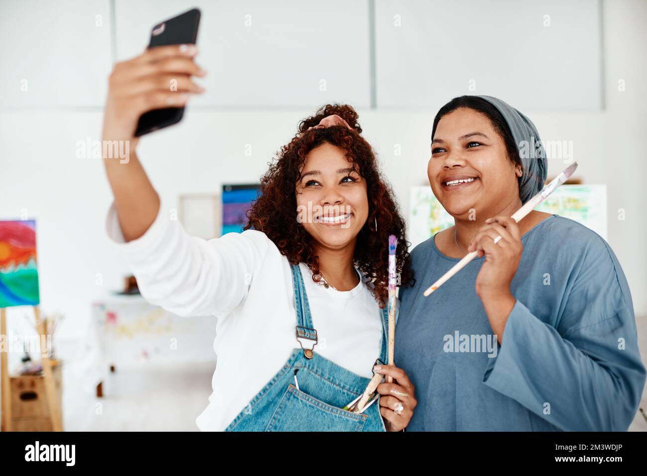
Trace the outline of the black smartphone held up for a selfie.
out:
<instances>
[{"instance_id":1,"label":"black smartphone held up for a selfie","mask_svg":"<svg viewBox=\"0 0 647 476\"><path fill-rule=\"evenodd\" d=\"M200 23L200 10L193 8L177 17L158 23L151 30L149 48L166 45L195 45ZM154 109L140 116L135 136L143 136L157 129L177 124L184 116L184 107Z\"/></svg>"}]
</instances>

